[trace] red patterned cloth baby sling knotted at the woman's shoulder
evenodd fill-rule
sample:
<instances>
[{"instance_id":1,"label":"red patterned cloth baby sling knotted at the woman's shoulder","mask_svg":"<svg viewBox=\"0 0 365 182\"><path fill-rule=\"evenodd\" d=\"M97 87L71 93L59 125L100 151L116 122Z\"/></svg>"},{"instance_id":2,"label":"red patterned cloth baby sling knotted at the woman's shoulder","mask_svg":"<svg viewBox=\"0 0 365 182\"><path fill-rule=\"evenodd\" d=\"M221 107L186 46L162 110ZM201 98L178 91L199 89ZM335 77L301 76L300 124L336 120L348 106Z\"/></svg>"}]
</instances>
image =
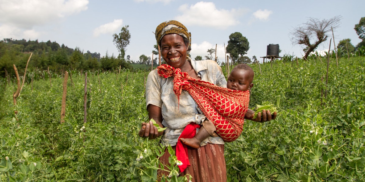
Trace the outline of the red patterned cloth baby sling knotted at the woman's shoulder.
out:
<instances>
[{"instance_id":1,"label":"red patterned cloth baby sling knotted at the woman's shoulder","mask_svg":"<svg viewBox=\"0 0 365 182\"><path fill-rule=\"evenodd\" d=\"M224 142L235 141L242 133L244 117L250 101L250 92L230 90L210 82L192 78L180 68L167 64L157 67L158 75L173 77L173 90L178 100L182 90L195 100L204 115L216 127L216 133Z\"/></svg>"}]
</instances>

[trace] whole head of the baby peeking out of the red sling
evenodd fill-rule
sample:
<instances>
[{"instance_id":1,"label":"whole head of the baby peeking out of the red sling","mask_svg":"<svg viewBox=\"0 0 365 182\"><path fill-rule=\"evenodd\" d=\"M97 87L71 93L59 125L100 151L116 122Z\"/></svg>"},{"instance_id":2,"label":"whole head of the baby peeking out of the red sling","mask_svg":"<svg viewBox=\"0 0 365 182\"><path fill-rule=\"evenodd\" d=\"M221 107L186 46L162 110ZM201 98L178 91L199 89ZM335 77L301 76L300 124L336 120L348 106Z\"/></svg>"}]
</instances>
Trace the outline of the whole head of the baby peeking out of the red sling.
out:
<instances>
[{"instance_id":1,"label":"whole head of the baby peeking out of the red sling","mask_svg":"<svg viewBox=\"0 0 365 182\"><path fill-rule=\"evenodd\" d=\"M227 88L232 90L246 91L253 87L254 72L247 64L235 66L227 79Z\"/></svg>"}]
</instances>

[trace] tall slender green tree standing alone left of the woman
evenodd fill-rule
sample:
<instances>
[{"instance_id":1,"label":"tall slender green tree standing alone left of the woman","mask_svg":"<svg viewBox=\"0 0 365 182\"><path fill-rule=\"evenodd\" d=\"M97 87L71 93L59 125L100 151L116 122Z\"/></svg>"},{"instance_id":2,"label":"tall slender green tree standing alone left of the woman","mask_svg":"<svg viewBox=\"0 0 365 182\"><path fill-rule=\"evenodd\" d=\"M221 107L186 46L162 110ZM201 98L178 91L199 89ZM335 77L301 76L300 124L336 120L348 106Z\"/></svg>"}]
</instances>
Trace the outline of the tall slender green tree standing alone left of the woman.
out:
<instances>
[{"instance_id":1,"label":"tall slender green tree standing alone left of the woman","mask_svg":"<svg viewBox=\"0 0 365 182\"><path fill-rule=\"evenodd\" d=\"M131 34L128 30L129 25L126 25L120 29L119 35L114 33L113 34L113 43L119 51L118 58L124 59L126 55L126 47L130 43Z\"/></svg>"}]
</instances>

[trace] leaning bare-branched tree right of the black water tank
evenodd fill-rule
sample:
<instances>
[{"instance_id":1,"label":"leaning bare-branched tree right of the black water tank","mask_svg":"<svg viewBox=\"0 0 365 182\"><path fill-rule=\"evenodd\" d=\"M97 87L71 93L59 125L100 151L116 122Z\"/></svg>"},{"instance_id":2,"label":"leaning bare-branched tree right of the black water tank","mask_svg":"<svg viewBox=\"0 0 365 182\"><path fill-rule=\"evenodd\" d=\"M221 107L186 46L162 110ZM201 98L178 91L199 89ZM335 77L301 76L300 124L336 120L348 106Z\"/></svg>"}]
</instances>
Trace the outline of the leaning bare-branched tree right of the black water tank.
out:
<instances>
[{"instance_id":1,"label":"leaning bare-branched tree right of the black water tank","mask_svg":"<svg viewBox=\"0 0 365 182\"><path fill-rule=\"evenodd\" d=\"M307 58L320 43L327 40L328 35L326 33L331 31L331 27L333 29L339 27L340 20L341 16L335 16L328 20L309 18L307 23L303 23L291 32L292 44L305 45L306 48L303 49L306 53L304 58Z\"/></svg>"}]
</instances>

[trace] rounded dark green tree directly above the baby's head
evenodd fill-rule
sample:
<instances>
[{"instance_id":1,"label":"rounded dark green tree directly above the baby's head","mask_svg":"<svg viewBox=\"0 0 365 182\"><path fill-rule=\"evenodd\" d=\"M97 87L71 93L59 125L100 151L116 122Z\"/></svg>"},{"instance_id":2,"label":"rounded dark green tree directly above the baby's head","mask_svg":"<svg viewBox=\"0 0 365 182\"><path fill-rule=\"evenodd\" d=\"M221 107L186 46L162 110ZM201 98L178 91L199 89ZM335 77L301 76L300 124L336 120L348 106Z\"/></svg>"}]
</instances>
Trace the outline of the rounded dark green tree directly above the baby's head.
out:
<instances>
[{"instance_id":1,"label":"rounded dark green tree directly above the baby's head","mask_svg":"<svg viewBox=\"0 0 365 182\"><path fill-rule=\"evenodd\" d=\"M229 36L226 51L231 56L233 64L240 55L243 56L247 54L249 49L249 41L246 37L242 36L242 33L234 32Z\"/></svg>"}]
</instances>

